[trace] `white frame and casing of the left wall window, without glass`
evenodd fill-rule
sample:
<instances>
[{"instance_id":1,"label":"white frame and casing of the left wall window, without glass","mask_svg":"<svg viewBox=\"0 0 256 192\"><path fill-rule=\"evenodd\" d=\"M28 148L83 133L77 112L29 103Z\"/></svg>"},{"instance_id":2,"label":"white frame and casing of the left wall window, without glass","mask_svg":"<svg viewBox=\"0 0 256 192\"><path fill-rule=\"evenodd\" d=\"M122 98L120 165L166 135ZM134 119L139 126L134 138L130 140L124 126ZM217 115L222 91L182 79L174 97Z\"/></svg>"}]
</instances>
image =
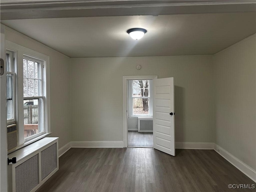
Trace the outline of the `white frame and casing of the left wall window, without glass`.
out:
<instances>
[{"instance_id":1,"label":"white frame and casing of the left wall window, without glass","mask_svg":"<svg viewBox=\"0 0 256 192\"><path fill-rule=\"evenodd\" d=\"M16 124L18 126L18 140L19 140L19 146L16 148L21 148L23 146L26 146L30 144L31 142L34 142L35 140L38 140L42 137L48 136L50 134L50 58L47 55L44 55L42 53L36 52L34 50L31 50L29 48L26 48L24 46L20 46L18 44L15 44L13 42L10 42L6 40L6 50L10 50L12 52L16 52L17 59L16 59L16 65L15 68L17 68L17 80L16 83L18 86L16 86ZM23 58L28 57L32 58L33 60L39 60L42 62L42 65L44 65L44 68L42 70L42 92L44 96L44 109L42 114L44 114L44 132L34 134L33 136L30 136L28 138L24 138L24 107L23 107ZM41 98L39 97L33 97L35 99ZM29 99L32 99L29 97Z\"/></svg>"}]
</instances>

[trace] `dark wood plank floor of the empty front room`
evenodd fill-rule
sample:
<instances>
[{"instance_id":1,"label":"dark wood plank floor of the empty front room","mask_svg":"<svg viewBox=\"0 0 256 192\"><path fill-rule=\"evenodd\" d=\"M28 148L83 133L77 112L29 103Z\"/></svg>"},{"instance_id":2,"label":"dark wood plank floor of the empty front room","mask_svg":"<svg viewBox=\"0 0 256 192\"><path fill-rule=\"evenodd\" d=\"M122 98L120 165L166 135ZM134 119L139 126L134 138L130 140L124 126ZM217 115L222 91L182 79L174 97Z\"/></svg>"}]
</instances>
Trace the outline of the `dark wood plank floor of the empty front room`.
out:
<instances>
[{"instance_id":1,"label":"dark wood plank floor of the empty front room","mask_svg":"<svg viewBox=\"0 0 256 192\"><path fill-rule=\"evenodd\" d=\"M214 150L71 148L60 169L37 192L247 192L255 184Z\"/></svg>"}]
</instances>

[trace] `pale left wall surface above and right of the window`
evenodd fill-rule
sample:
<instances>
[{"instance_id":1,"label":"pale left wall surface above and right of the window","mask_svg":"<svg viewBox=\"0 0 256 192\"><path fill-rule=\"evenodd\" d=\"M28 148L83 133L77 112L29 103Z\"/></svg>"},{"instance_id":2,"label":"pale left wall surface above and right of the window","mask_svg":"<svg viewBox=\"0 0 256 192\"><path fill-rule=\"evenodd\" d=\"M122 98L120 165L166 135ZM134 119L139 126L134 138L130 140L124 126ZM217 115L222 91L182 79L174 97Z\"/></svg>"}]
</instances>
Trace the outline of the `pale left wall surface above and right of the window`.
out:
<instances>
[{"instance_id":1,"label":"pale left wall surface above and right of the window","mask_svg":"<svg viewBox=\"0 0 256 192\"><path fill-rule=\"evenodd\" d=\"M14 30L6 30L6 40L50 56L50 126L59 137L59 148L70 142L70 58Z\"/></svg>"}]
</instances>

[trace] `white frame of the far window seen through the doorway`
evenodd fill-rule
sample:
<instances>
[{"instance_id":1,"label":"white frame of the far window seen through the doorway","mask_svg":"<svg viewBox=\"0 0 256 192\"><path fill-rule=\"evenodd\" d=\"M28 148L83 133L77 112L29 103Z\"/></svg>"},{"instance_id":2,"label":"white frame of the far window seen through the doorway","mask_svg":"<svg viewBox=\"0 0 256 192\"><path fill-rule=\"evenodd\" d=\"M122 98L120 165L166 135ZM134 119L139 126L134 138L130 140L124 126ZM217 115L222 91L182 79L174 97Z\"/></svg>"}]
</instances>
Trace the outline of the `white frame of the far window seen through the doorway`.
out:
<instances>
[{"instance_id":1,"label":"white frame of the far window seen through the doorway","mask_svg":"<svg viewBox=\"0 0 256 192\"><path fill-rule=\"evenodd\" d=\"M134 79L134 80L142 80L142 79ZM153 84L153 80L152 79L143 79L143 80L149 80L149 96L147 97L134 97L132 94L132 81L134 80L128 80L128 118L138 118L138 117L153 117L153 90L152 90L152 84ZM147 114L133 114L133 98L149 98L149 105L148 105L148 110L149 113Z\"/></svg>"}]
</instances>

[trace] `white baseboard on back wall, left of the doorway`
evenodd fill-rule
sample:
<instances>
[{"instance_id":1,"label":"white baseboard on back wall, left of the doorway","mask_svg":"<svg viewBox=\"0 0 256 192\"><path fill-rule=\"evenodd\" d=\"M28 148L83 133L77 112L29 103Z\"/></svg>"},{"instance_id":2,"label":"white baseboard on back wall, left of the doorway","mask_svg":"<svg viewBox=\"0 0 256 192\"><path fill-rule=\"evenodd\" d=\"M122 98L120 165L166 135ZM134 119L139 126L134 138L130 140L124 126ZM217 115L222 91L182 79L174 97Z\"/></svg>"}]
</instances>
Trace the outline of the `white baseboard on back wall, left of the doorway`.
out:
<instances>
[{"instance_id":1,"label":"white baseboard on back wall, left of the doorway","mask_svg":"<svg viewBox=\"0 0 256 192\"><path fill-rule=\"evenodd\" d=\"M123 141L72 141L74 148L123 148Z\"/></svg>"}]
</instances>

